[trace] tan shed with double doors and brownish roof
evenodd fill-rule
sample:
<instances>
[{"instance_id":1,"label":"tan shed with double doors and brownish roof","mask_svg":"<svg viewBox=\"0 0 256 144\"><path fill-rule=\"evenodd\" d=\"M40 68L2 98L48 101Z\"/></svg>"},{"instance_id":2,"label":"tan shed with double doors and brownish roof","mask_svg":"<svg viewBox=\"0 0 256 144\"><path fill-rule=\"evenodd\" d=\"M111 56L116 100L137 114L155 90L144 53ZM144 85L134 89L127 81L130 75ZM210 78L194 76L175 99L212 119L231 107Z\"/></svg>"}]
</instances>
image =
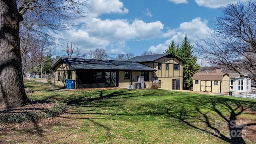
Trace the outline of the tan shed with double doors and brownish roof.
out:
<instances>
[{"instance_id":1,"label":"tan shed with double doors and brownish roof","mask_svg":"<svg viewBox=\"0 0 256 144\"><path fill-rule=\"evenodd\" d=\"M198 72L193 75L193 91L226 93L230 88L230 76L217 70L216 73Z\"/></svg>"}]
</instances>

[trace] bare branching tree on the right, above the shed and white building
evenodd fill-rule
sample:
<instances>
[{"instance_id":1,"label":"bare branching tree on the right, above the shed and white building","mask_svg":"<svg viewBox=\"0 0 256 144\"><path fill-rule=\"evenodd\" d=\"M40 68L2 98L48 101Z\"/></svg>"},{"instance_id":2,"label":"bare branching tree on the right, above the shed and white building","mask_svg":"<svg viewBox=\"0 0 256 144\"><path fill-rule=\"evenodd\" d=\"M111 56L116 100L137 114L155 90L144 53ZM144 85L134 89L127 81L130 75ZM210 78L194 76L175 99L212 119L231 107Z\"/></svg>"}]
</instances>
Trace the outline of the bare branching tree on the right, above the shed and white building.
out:
<instances>
[{"instance_id":1,"label":"bare branching tree on the right, above the shed and white building","mask_svg":"<svg viewBox=\"0 0 256 144\"><path fill-rule=\"evenodd\" d=\"M216 29L196 44L198 57L236 71L250 72L256 81L256 2L231 3L220 8L222 17L214 21Z\"/></svg>"}]
</instances>

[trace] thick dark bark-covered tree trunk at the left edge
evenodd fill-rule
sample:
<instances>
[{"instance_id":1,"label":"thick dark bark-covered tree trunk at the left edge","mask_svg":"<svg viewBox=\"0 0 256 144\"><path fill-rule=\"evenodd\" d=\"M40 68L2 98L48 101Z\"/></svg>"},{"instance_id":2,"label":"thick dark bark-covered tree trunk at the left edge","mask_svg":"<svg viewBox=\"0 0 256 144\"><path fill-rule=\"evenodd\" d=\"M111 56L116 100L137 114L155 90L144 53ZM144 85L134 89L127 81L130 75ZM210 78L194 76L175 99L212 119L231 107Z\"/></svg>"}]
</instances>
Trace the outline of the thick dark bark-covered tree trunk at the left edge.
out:
<instances>
[{"instance_id":1,"label":"thick dark bark-covered tree trunk at the left edge","mask_svg":"<svg viewBox=\"0 0 256 144\"><path fill-rule=\"evenodd\" d=\"M22 78L16 0L0 0L0 106L22 106L30 102Z\"/></svg>"}]
</instances>

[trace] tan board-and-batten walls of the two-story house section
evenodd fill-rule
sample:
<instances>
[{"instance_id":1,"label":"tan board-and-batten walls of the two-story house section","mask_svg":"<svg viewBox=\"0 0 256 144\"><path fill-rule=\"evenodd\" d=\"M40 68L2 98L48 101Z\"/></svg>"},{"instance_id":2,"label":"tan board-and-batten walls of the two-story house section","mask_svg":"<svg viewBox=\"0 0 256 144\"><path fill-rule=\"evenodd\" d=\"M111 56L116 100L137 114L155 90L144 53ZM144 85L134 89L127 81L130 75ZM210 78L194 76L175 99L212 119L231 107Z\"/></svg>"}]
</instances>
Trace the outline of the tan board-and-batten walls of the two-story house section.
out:
<instances>
[{"instance_id":1,"label":"tan board-and-batten walls of the two-story house section","mask_svg":"<svg viewBox=\"0 0 256 144\"><path fill-rule=\"evenodd\" d=\"M158 63L162 63L162 69L158 70ZM180 79L180 89L182 90L183 85L183 63L176 58L162 57L154 62L144 62L146 66L150 66L157 70L153 74L153 80L156 78L161 81L161 87L159 89L172 90L172 80ZM166 64L169 68L166 70ZM174 70L174 64L180 64L180 70Z\"/></svg>"}]
</instances>

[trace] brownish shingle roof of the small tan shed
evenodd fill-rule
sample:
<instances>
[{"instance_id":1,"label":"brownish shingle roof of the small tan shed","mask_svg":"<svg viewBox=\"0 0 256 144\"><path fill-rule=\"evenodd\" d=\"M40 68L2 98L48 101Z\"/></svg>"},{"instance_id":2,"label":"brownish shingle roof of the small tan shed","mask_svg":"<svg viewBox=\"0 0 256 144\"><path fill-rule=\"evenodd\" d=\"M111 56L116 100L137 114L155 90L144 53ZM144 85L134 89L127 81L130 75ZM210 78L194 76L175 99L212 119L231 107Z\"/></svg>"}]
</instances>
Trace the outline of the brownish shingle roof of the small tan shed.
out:
<instances>
[{"instance_id":1,"label":"brownish shingle roof of the small tan shed","mask_svg":"<svg viewBox=\"0 0 256 144\"><path fill-rule=\"evenodd\" d=\"M193 75L193 80L218 80L221 81L222 78L227 75L228 73L206 73L206 72L198 72Z\"/></svg>"}]
</instances>

